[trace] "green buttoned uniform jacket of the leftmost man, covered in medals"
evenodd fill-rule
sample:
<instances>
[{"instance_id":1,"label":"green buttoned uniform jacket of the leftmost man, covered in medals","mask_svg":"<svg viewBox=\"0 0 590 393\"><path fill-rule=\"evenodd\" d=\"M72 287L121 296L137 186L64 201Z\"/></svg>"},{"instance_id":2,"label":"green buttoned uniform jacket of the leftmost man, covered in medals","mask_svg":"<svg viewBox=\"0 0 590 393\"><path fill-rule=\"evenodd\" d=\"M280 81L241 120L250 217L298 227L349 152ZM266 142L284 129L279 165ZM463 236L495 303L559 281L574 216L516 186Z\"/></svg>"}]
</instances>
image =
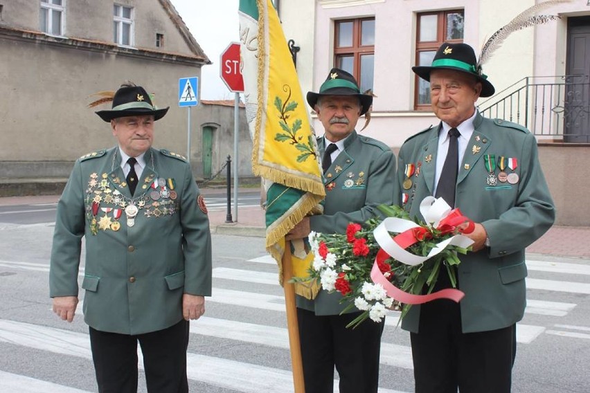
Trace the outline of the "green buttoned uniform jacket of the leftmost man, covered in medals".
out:
<instances>
[{"instance_id":1,"label":"green buttoned uniform jacket of the leftmost man, covered in medals","mask_svg":"<svg viewBox=\"0 0 590 393\"><path fill-rule=\"evenodd\" d=\"M183 293L211 295L211 232L190 166L166 150L144 157L133 198L115 147L79 158L57 205L50 295L78 295L85 237L84 320L100 331L166 329L183 318ZM130 201L139 208L133 226Z\"/></svg>"}]
</instances>

